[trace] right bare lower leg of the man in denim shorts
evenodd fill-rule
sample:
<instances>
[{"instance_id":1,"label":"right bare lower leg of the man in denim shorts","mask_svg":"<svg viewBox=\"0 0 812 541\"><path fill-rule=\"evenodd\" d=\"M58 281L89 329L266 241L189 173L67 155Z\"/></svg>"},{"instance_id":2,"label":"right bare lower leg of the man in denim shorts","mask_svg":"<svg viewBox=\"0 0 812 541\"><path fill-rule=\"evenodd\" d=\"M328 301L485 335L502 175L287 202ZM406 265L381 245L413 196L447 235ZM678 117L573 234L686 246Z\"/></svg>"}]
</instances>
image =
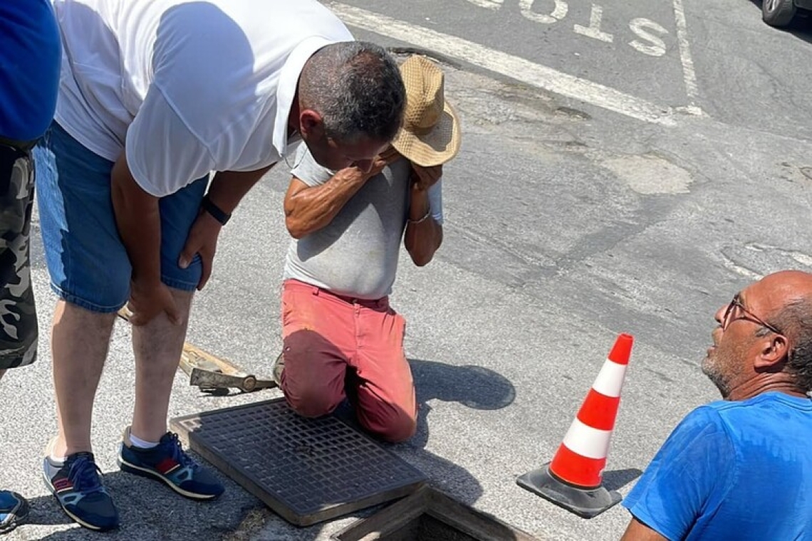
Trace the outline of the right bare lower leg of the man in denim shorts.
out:
<instances>
[{"instance_id":1,"label":"right bare lower leg of the man in denim shorts","mask_svg":"<svg viewBox=\"0 0 812 541\"><path fill-rule=\"evenodd\" d=\"M166 434L166 415L172 382L184 349L192 292L172 290L182 324L171 324L166 313L141 327L132 328L136 354L136 407L132 414L133 436L158 441Z\"/></svg>"}]
</instances>

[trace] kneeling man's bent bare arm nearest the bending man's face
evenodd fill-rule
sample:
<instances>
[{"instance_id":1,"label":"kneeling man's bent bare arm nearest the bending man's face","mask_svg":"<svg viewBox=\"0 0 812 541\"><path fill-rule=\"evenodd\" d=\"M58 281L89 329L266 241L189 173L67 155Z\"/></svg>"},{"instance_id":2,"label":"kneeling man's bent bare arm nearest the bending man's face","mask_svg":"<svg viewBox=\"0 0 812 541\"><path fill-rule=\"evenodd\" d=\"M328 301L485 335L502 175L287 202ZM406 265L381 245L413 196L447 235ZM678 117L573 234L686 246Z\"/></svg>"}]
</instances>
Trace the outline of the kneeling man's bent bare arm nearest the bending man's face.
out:
<instances>
[{"instance_id":1,"label":"kneeling man's bent bare arm nearest the bending man's face","mask_svg":"<svg viewBox=\"0 0 812 541\"><path fill-rule=\"evenodd\" d=\"M322 229L352 199L362 186L380 173L386 161L374 161L372 169L364 172L357 167L338 171L320 186L309 187L293 177L285 194L285 225L293 238L302 238Z\"/></svg>"}]
</instances>

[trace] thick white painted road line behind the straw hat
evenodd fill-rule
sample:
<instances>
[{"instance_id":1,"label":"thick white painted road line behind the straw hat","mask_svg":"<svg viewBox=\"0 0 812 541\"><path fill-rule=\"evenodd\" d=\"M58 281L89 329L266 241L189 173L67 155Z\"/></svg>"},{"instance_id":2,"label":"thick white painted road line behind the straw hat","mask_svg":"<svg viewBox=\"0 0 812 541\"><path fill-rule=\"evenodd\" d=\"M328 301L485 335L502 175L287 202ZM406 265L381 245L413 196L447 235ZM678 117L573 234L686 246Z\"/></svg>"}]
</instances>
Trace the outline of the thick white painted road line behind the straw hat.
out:
<instances>
[{"instance_id":1,"label":"thick white painted road line behind the straw hat","mask_svg":"<svg viewBox=\"0 0 812 541\"><path fill-rule=\"evenodd\" d=\"M673 110L670 107L655 105L650 101L641 100L603 84L579 79L574 75L568 75L524 58L489 49L472 41L407 24L386 15L365 11L355 6L332 2L330 3L330 9L335 11L335 14L350 26L417 45L463 62L469 62L486 70L519 80L522 83L544 88L550 92L579 101L585 101L615 113L637 118L637 120L663 126L676 125Z\"/></svg>"}]
</instances>

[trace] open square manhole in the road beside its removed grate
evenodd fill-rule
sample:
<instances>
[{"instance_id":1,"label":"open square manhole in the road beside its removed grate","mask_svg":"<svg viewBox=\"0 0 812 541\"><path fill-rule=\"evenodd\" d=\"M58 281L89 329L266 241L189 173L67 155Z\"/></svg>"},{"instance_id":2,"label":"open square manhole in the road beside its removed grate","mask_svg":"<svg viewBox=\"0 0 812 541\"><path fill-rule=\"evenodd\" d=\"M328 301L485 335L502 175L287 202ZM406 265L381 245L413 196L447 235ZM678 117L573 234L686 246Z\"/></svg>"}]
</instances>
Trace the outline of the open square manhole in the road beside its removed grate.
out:
<instances>
[{"instance_id":1,"label":"open square manhole in the road beside its removed grate","mask_svg":"<svg viewBox=\"0 0 812 541\"><path fill-rule=\"evenodd\" d=\"M333 535L335 541L538 541L423 486L412 496Z\"/></svg>"}]
</instances>

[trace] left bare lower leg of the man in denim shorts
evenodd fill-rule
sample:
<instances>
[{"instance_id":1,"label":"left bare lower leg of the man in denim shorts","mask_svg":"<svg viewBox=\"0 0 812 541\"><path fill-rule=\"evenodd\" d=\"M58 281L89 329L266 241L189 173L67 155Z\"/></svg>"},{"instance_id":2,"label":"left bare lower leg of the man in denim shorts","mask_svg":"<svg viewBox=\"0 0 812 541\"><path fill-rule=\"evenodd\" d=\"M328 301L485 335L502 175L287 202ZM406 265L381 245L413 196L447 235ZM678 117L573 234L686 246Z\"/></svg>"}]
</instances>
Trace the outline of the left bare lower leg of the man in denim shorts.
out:
<instances>
[{"instance_id":1,"label":"left bare lower leg of the man in denim shorts","mask_svg":"<svg viewBox=\"0 0 812 541\"><path fill-rule=\"evenodd\" d=\"M102 377L115 314L59 300L51 328L59 435L50 452L67 457L90 451L93 400Z\"/></svg>"}]
</instances>

